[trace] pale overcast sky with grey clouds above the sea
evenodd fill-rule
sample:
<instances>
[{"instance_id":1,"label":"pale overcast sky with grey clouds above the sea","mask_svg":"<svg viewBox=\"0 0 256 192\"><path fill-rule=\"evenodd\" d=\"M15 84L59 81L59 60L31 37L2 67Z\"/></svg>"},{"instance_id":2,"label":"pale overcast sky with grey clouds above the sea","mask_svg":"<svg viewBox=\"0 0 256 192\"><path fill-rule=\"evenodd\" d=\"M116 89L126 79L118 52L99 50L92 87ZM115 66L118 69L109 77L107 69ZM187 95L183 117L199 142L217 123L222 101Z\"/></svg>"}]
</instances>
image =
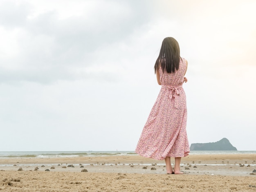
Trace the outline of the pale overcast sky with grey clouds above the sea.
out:
<instances>
[{"instance_id":1,"label":"pale overcast sky with grey clouds above the sea","mask_svg":"<svg viewBox=\"0 0 256 192\"><path fill-rule=\"evenodd\" d=\"M188 60L189 143L256 150L255 0L0 0L0 151L135 150L162 40Z\"/></svg>"}]
</instances>

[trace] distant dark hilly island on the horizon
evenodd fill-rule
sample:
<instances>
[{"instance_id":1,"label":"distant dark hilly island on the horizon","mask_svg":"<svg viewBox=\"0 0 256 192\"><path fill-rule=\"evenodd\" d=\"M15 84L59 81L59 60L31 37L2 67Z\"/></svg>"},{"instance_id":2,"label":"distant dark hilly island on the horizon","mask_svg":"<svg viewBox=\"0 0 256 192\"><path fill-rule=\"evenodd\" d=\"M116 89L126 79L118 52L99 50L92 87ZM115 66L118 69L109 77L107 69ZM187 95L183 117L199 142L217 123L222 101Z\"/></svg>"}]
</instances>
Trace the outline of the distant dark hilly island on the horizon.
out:
<instances>
[{"instance_id":1,"label":"distant dark hilly island on the horizon","mask_svg":"<svg viewBox=\"0 0 256 192\"><path fill-rule=\"evenodd\" d=\"M191 151L237 151L227 138L213 143L192 143Z\"/></svg>"}]
</instances>

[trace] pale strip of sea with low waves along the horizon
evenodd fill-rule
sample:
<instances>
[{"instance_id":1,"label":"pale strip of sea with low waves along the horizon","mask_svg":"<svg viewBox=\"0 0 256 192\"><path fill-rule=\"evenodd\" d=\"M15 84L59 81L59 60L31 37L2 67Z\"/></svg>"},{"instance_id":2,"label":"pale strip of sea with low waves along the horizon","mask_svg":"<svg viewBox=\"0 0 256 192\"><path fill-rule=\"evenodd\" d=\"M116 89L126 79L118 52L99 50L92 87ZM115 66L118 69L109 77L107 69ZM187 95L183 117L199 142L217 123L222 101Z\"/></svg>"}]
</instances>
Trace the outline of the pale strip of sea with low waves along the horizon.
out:
<instances>
[{"instance_id":1,"label":"pale strip of sea with low waves along the horizon","mask_svg":"<svg viewBox=\"0 0 256 192\"><path fill-rule=\"evenodd\" d=\"M193 154L256 154L256 151L191 151ZM88 156L124 156L137 155L134 151L24 151L0 152L0 159L5 158L51 158L51 157L88 157Z\"/></svg>"}]
</instances>

